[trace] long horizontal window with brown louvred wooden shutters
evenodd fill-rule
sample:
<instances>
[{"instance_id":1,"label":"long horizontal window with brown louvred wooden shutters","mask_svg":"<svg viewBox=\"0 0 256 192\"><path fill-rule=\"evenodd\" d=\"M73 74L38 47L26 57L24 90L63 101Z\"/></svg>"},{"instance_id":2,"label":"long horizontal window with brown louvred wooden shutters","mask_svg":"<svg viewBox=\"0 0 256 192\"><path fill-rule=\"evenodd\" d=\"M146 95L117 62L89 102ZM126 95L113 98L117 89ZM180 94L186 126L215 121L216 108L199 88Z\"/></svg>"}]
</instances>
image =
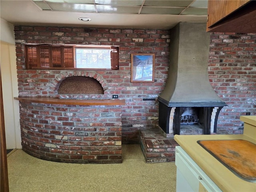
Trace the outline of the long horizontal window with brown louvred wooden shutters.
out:
<instances>
[{"instance_id":1,"label":"long horizontal window with brown louvred wooden shutters","mask_svg":"<svg viewBox=\"0 0 256 192\"><path fill-rule=\"evenodd\" d=\"M26 45L28 69L111 69L119 68L116 46Z\"/></svg>"}]
</instances>

